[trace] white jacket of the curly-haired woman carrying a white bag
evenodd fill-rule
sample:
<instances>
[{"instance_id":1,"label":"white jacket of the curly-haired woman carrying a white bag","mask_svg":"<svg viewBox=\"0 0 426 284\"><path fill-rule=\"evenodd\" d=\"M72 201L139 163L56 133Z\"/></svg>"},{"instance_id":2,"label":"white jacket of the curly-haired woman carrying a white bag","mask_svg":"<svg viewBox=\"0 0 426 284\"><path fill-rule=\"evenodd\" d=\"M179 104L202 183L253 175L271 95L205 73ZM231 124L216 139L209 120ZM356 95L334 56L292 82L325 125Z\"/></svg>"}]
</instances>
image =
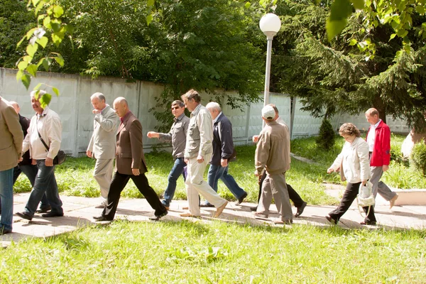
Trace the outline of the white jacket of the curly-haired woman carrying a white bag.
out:
<instances>
[{"instance_id":1,"label":"white jacket of the curly-haired woman carrying a white bag","mask_svg":"<svg viewBox=\"0 0 426 284\"><path fill-rule=\"evenodd\" d=\"M330 168L337 170L341 165L343 165L344 177L348 182L356 183L371 178L368 144L364 139L356 137L352 143L344 143L342 152Z\"/></svg>"}]
</instances>

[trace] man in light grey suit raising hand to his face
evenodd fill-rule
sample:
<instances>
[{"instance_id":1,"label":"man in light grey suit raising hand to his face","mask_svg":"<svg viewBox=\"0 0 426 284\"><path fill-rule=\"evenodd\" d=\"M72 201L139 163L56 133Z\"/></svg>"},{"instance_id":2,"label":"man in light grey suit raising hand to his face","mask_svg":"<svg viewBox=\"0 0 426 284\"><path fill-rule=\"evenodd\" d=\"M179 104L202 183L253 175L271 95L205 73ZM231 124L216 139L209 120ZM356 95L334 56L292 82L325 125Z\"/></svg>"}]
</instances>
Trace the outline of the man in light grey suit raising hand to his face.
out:
<instances>
[{"instance_id":1,"label":"man in light grey suit raising hand to his face","mask_svg":"<svg viewBox=\"0 0 426 284\"><path fill-rule=\"evenodd\" d=\"M116 153L116 133L118 116L105 102L102 93L94 93L90 97L95 114L93 134L87 147L86 155L96 159L93 177L101 187L102 203L96 208L104 208L108 199L109 185L112 179L112 169Z\"/></svg>"}]
</instances>

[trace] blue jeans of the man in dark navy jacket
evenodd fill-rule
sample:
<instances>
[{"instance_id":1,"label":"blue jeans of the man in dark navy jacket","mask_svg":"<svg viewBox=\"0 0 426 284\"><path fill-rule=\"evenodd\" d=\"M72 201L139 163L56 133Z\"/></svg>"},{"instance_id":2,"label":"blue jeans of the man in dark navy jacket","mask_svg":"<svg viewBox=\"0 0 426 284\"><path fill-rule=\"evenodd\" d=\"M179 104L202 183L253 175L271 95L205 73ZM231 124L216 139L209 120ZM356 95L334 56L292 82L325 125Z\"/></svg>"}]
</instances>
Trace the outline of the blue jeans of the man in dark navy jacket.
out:
<instances>
[{"instance_id":1,"label":"blue jeans of the man in dark navy jacket","mask_svg":"<svg viewBox=\"0 0 426 284\"><path fill-rule=\"evenodd\" d=\"M217 182L222 180L229 191L238 200L240 197L246 194L246 192L237 185L234 177L229 175L228 166L223 168L221 165L210 165L209 173L207 174L207 183L217 192Z\"/></svg>"}]
</instances>

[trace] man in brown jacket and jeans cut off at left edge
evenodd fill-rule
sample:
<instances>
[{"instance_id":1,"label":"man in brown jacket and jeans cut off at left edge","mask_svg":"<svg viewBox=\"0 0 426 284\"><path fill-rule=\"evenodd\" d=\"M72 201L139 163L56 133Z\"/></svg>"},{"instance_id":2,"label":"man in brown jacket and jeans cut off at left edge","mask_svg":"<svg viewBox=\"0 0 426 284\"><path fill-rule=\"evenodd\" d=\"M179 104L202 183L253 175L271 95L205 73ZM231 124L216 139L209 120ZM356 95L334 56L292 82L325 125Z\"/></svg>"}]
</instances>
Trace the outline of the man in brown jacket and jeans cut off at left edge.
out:
<instances>
[{"instance_id":1,"label":"man in brown jacket and jeans cut off at left edge","mask_svg":"<svg viewBox=\"0 0 426 284\"><path fill-rule=\"evenodd\" d=\"M0 97L0 235L12 232L13 219L13 168L22 155L23 133L19 116Z\"/></svg>"}]
</instances>

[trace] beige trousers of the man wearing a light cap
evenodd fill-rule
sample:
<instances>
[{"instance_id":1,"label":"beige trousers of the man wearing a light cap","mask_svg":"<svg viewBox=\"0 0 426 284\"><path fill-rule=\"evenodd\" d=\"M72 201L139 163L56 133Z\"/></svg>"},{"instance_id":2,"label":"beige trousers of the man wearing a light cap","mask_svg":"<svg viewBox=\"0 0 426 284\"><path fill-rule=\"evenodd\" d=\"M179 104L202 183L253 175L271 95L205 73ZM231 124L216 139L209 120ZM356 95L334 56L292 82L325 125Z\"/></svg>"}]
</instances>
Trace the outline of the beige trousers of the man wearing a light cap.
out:
<instances>
[{"instance_id":1,"label":"beige trousers of the man wearing a light cap","mask_svg":"<svg viewBox=\"0 0 426 284\"><path fill-rule=\"evenodd\" d=\"M272 197L275 200L278 213L281 215L281 220L284 222L293 220L287 184L285 183L285 173L266 175L265 180L263 180L261 200L259 200L257 212L268 215Z\"/></svg>"}]
</instances>

